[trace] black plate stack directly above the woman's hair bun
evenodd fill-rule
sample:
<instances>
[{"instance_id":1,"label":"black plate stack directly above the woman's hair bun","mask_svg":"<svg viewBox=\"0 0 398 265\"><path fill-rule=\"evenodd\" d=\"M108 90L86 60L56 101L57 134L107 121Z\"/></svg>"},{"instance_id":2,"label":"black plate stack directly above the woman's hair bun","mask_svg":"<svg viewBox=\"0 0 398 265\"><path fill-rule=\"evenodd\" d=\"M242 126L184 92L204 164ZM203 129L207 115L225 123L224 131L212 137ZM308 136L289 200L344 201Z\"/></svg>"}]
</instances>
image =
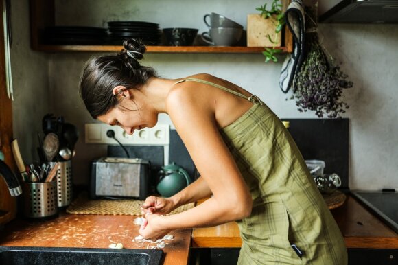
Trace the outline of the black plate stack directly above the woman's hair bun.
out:
<instances>
[{"instance_id":1,"label":"black plate stack directly above the woman's hair bun","mask_svg":"<svg viewBox=\"0 0 398 265\"><path fill-rule=\"evenodd\" d=\"M159 24L144 21L109 21L109 44L122 45L127 38L141 40L145 45L159 45Z\"/></svg>"}]
</instances>

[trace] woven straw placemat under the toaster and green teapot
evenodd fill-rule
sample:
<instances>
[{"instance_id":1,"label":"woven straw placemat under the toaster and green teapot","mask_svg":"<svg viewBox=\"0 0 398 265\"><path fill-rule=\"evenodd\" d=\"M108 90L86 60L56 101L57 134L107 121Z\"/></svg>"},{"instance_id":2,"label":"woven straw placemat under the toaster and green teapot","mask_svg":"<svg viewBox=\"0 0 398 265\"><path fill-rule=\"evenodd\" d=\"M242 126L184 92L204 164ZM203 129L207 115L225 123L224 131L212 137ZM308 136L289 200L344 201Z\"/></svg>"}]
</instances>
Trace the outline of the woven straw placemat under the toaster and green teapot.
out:
<instances>
[{"instance_id":1,"label":"woven straw placemat under the toaster and green teapot","mask_svg":"<svg viewBox=\"0 0 398 265\"><path fill-rule=\"evenodd\" d=\"M144 200L91 200L86 193L82 193L73 200L67 208L69 214L102 214L102 215L141 215L141 205ZM183 205L170 214L178 214L194 207L194 203Z\"/></svg>"}]
</instances>

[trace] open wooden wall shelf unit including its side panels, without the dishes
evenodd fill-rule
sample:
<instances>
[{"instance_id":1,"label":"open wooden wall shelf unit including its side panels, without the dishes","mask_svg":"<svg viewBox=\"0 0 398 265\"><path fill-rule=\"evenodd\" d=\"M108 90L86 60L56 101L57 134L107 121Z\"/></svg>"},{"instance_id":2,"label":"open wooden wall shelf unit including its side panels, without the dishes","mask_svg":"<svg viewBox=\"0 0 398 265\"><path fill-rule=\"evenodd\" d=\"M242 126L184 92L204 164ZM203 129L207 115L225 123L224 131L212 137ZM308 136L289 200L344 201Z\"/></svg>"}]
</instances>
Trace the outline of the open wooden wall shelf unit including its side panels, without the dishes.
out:
<instances>
[{"instance_id":1,"label":"open wooden wall shelf unit including its side panels, without the dishes","mask_svg":"<svg viewBox=\"0 0 398 265\"><path fill-rule=\"evenodd\" d=\"M290 0L282 0L284 7ZM253 8L254 9L254 8ZM31 47L36 51L120 51L117 45L45 45L43 44L43 30L55 25L54 0L30 0ZM283 52L292 52L292 34L285 30L282 47ZM220 46L148 46L150 53L234 53L255 54L264 51L264 47L220 47Z\"/></svg>"}]
</instances>

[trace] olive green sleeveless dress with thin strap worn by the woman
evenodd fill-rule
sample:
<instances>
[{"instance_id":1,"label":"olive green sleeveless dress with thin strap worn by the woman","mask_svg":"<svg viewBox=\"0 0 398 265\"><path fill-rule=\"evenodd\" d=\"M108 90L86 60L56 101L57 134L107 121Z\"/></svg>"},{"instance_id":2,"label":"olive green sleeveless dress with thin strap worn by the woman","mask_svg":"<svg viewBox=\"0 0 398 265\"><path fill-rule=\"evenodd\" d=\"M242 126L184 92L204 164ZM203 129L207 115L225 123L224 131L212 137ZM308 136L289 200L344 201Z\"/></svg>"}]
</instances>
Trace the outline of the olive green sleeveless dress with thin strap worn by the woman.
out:
<instances>
[{"instance_id":1,"label":"olive green sleeveless dress with thin strap worn by the woman","mask_svg":"<svg viewBox=\"0 0 398 265\"><path fill-rule=\"evenodd\" d=\"M180 82L189 80L231 92L204 80ZM220 130L253 198L250 216L237 221L238 264L347 264L340 229L290 133L258 97L238 96L253 106Z\"/></svg>"}]
</instances>

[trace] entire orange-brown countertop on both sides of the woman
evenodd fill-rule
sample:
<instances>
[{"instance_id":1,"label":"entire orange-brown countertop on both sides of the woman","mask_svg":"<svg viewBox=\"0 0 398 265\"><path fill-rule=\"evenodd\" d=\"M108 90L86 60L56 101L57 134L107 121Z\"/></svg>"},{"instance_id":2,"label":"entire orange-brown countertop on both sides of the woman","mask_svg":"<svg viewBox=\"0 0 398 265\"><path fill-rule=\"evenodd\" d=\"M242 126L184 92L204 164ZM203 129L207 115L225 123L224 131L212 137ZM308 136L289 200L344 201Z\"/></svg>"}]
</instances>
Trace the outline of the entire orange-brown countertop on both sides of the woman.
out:
<instances>
[{"instance_id":1,"label":"entire orange-brown countertop on both sides of the woman","mask_svg":"<svg viewBox=\"0 0 398 265\"><path fill-rule=\"evenodd\" d=\"M348 248L398 249L398 234L373 216L355 198L347 196L341 207L331 210ZM133 242L139 226L136 216L60 214L51 220L17 218L0 231L1 246L60 246L107 249L120 242L126 249L146 249L148 243ZM202 229L172 231L174 240L163 251L163 264L188 263L189 247L240 247L235 222Z\"/></svg>"}]
</instances>

